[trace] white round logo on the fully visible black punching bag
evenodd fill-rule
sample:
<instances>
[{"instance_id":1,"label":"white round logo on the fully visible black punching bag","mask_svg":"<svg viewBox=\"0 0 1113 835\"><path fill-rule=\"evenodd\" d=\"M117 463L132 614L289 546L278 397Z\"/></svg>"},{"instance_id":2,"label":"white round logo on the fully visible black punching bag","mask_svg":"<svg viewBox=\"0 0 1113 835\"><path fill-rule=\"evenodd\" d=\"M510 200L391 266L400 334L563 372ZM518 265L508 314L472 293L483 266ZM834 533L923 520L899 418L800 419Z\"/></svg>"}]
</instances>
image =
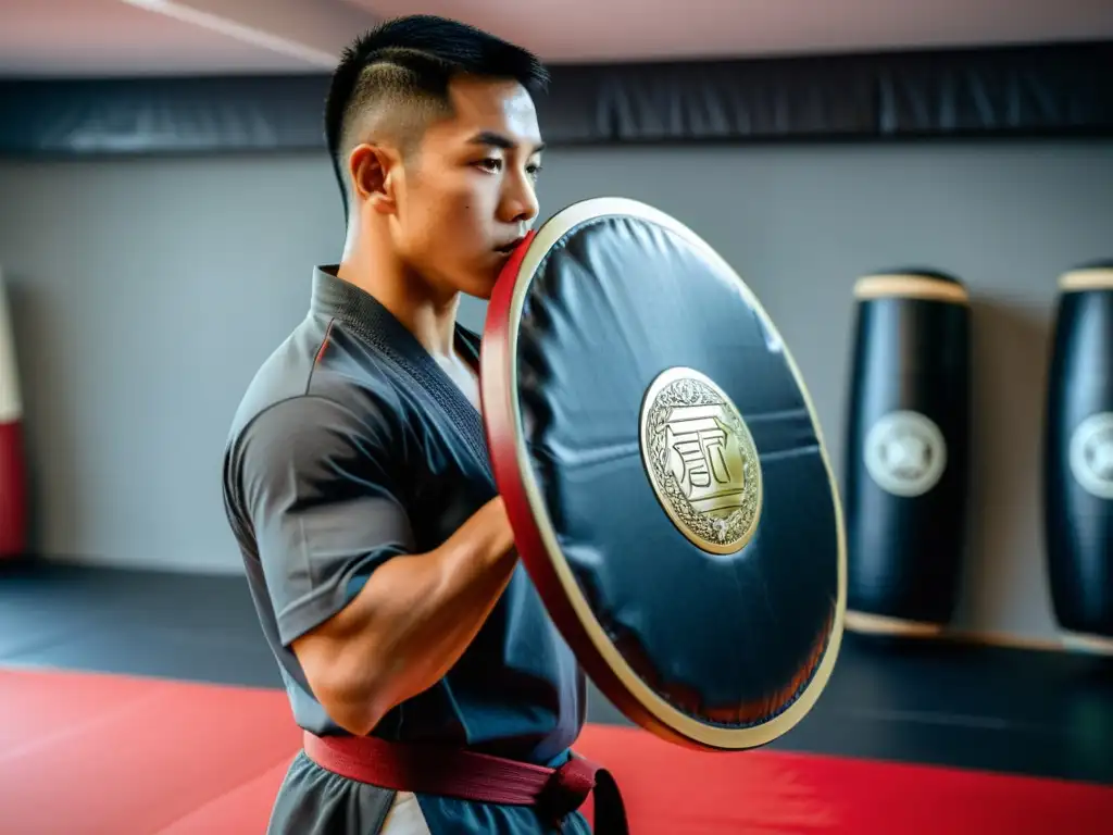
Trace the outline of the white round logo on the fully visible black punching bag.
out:
<instances>
[{"instance_id":1,"label":"white round logo on the fully visible black punching bag","mask_svg":"<svg viewBox=\"0 0 1113 835\"><path fill-rule=\"evenodd\" d=\"M930 418L919 412L890 412L866 435L866 470L894 495L923 495L947 466L947 444Z\"/></svg>"}]
</instances>

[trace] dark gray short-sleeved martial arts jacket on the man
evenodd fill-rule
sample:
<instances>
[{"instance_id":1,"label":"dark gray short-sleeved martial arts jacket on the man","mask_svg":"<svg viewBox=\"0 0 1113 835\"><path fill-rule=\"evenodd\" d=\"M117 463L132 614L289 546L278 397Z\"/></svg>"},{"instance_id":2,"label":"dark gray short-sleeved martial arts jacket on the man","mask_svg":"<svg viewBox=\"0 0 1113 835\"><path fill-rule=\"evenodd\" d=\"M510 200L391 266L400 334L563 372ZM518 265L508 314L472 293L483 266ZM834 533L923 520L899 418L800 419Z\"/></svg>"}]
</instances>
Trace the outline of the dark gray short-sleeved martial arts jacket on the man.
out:
<instances>
[{"instance_id":1,"label":"dark gray short-sleeved martial arts jacket on the man","mask_svg":"<svg viewBox=\"0 0 1113 835\"><path fill-rule=\"evenodd\" d=\"M475 334L457 327L457 346L477 364ZM247 389L224 490L294 717L318 735L345 731L290 642L378 566L435 548L496 494L480 414L385 307L327 267ZM551 764L583 720L583 676L519 566L460 661L374 734Z\"/></svg>"}]
</instances>

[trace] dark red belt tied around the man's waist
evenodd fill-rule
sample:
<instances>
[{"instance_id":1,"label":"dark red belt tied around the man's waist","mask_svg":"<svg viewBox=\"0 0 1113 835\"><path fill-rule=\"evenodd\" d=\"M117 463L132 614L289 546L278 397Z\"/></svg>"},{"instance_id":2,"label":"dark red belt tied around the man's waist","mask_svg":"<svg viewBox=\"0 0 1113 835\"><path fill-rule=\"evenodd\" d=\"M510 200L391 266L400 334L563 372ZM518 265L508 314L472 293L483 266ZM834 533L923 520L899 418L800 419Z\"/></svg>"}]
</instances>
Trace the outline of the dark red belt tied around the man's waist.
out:
<instances>
[{"instance_id":1,"label":"dark red belt tied around the man's waist","mask_svg":"<svg viewBox=\"0 0 1113 835\"><path fill-rule=\"evenodd\" d=\"M580 756L560 768L435 745L400 745L377 737L305 734L305 753L342 777L395 792L479 803L533 806L559 822L594 792L597 835L628 835L626 808L610 772Z\"/></svg>"}]
</instances>

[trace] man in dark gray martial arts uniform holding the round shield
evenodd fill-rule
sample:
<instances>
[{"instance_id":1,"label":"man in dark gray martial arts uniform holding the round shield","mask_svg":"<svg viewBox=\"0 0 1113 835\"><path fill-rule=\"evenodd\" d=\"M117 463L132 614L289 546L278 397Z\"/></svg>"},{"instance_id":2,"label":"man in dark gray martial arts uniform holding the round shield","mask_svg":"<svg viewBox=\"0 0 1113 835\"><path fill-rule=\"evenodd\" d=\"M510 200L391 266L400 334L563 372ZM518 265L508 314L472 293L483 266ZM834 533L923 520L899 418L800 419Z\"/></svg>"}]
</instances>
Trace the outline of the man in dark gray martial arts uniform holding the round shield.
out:
<instances>
[{"instance_id":1,"label":"man in dark gray martial arts uniform holding the round shield","mask_svg":"<svg viewBox=\"0 0 1113 835\"><path fill-rule=\"evenodd\" d=\"M455 321L460 294L487 298L538 216L532 94L545 80L529 52L424 16L364 36L336 70L326 134L343 257L316 268L306 318L250 383L224 470L307 739L555 768L582 727L582 675L496 495L479 338ZM553 831L534 806L382 788L307 752L272 833ZM578 813L556 817L588 832Z\"/></svg>"}]
</instances>

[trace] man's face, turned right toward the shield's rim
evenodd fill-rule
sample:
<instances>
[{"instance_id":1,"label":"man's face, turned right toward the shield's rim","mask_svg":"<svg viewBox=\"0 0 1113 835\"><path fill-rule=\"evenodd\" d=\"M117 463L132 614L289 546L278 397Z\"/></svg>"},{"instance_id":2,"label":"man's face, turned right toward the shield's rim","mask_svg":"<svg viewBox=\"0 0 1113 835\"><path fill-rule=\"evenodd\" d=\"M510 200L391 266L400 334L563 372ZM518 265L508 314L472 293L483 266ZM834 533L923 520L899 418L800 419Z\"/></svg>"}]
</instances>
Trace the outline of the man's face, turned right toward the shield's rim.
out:
<instances>
[{"instance_id":1,"label":"man's face, turned right toward the shield's rim","mask_svg":"<svg viewBox=\"0 0 1113 835\"><path fill-rule=\"evenodd\" d=\"M541 130L515 82L457 79L451 96L453 116L430 126L405 166L393 237L436 289L489 298L538 216Z\"/></svg>"}]
</instances>

